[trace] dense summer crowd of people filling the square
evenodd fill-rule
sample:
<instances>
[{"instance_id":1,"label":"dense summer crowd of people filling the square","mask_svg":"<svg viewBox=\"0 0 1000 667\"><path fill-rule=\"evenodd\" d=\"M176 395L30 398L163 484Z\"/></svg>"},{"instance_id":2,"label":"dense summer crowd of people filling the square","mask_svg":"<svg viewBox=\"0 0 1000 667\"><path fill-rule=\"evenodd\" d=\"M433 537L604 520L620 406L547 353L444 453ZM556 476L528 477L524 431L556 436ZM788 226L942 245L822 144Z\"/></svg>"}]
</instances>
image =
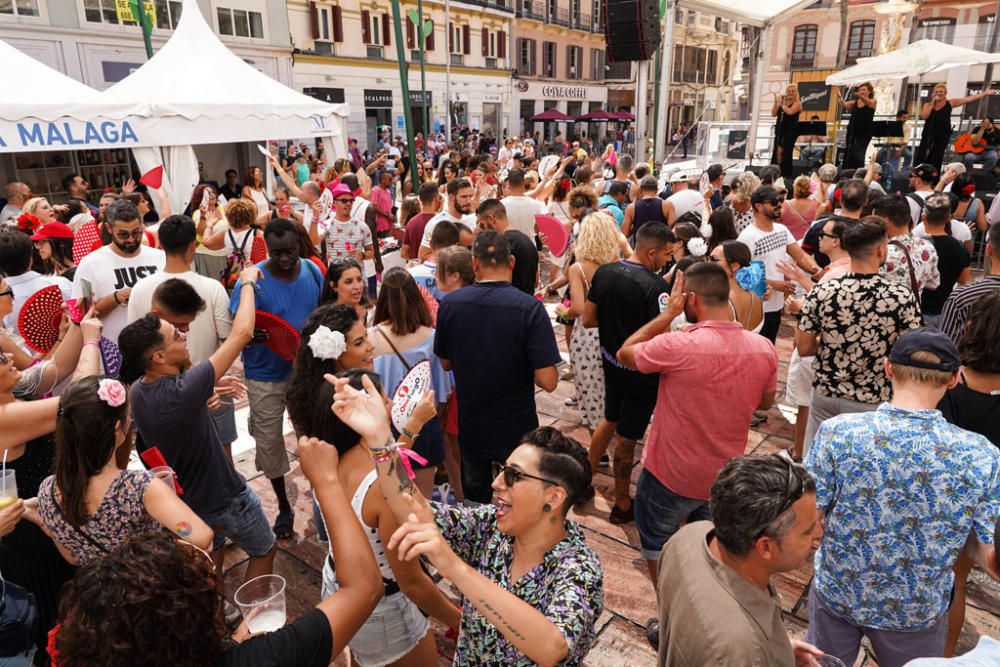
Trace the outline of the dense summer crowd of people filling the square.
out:
<instances>
[{"instance_id":1,"label":"dense summer crowd of people filling the square","mask_svg":"<svg viewBox=\"0 0 1000 667\"><path fill-rule=\"evenodd\" d=\"M32 614L0 662L436 664L433 618L457 665L579 665L604 565L571 510L608 466L660 664L951 656L970 572L1000 578L1000 224L961 165L887 194L875 161L783 178L792 144L731 180L586 137L291 144L176 213L132 182L95 204L73 175L55 206L9 184L0 570ZM38 349L21 314L53 286ZM586 446L539 424L560 380ZM244 398L273 517L233 462ZM746 455L778 401L794 443ZM289 422L322 593L251 635L224 557L250 581L295 536ZM771 578L810 558L802 641Z\"/></svg>"}]
</instances>

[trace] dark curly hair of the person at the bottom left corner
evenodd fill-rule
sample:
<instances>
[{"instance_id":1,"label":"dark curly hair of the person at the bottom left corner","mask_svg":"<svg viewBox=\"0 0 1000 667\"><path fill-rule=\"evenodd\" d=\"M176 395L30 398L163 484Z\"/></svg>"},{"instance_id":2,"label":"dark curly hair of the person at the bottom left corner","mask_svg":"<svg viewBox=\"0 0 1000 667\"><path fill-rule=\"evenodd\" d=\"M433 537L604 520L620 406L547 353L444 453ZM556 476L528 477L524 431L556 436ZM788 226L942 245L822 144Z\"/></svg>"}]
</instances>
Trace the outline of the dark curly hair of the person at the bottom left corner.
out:
<instances>
[{"instance_id":1,"label":"dark curly hair of the person at the bottom left corner","mask_svg":"<svg viewBox=\"0 0 1000 667\"><path fill-rule=\"evenodd\" d=\"M229 644L212 561L165 531L136 535L66 584L56 636L78 667L215 664Z\"/></svg>"}]
</instances>

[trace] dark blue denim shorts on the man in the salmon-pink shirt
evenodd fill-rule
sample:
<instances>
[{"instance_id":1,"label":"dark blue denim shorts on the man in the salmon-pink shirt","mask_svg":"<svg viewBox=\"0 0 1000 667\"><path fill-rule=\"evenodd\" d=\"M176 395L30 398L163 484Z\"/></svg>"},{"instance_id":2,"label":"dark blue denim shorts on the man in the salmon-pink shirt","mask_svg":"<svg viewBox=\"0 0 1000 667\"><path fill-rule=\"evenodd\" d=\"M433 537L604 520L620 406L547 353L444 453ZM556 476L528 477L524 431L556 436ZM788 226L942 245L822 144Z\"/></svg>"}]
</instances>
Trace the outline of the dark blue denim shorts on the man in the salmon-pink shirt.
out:
<instances>
[{"instance_id":1,"label":"dark blue denim shorts on the man in the salmon-pink shirt","mask_svg":"<svg viewBox=\"0 0 1000 667\"><path fill-rule=\"evenodd\" d=\"M659 560L660 551L687 521L709 518L708 501L679 496L643 468L635 485L635 527L642 557Z\"/></svg>"}]
</instances>

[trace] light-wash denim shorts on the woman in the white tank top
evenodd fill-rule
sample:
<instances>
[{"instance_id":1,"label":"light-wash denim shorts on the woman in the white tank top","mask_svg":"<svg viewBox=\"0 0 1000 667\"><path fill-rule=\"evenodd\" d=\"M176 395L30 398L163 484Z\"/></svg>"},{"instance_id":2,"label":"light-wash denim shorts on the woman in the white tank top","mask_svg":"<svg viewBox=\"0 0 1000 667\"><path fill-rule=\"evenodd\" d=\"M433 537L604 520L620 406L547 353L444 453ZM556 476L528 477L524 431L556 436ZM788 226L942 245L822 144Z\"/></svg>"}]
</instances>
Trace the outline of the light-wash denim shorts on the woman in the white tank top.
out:
<instances>
[{"instance_id":1,"label":"light-wash denim shorts on the woman in the white tank top","mask_svg":"<svg viewBox=\"0 0 1000 667\"><path fill-rule=\"evenodd\" d=\"M330 558L323 560L321 598L337 591L336 573ZM403 593L386 595L348 642L351 656L361 667L389 665L413 650L430 628L430 621Z\"/></svg>"}]
</instances>

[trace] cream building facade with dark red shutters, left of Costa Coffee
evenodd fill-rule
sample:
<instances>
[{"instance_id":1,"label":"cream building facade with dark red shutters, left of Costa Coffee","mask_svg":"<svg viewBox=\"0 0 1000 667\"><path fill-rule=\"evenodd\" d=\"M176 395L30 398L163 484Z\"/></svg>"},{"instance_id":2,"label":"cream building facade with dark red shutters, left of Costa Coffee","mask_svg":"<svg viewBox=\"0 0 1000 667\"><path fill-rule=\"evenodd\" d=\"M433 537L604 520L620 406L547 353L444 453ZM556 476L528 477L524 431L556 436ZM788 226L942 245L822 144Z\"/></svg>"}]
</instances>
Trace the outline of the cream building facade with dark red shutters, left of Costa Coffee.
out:
<instances>
[{"instance_id":1,"label":"cream building facade with dark red shutters, left of Costa Coffee","mask_svg":"<svg viewBox=\"0 0 1000 667\"><path fill-rule=\"evenodd\" d=\"M388 126L405 135L404 106L415 132L453 127L500 134L510 127L510 43L512 0L445 3L425 0L424 74L429 127L421 118L420 52L417 26L402 18L409 65L409 99L402 99L397 37L388 3L377 0L289 0L295 88L350 105L348 133L373 146ZM404 6L415 16L416 3Z\"/></svg>"}]
</instances>

